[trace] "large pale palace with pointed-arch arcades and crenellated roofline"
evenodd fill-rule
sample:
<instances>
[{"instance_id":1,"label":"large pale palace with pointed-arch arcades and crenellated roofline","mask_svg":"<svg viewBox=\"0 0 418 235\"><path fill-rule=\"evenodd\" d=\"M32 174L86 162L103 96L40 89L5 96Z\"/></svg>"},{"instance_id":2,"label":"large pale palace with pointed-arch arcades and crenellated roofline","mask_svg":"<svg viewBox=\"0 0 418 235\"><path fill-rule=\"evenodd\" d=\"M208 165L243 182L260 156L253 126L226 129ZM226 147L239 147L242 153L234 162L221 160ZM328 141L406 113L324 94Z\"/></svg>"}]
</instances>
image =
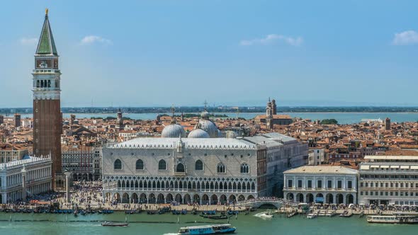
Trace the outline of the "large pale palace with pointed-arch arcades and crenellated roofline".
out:
<instances>
[{"instance_id":1,"label":"large pale palace with pointed-arch arcades and crenellated roofline","mask_svg":"<svg viewBox=\"0 0 418 235\"><path fill-rule=\"evenodd\" d=\"M210 133L211 138L137 138L103 147L105 200L216 204L267 196L273 192L269 185L280 185L275 180L283 185L283 177L273 176L307 159L307 144L281 134Z\"/></svg>"}]
</instances>

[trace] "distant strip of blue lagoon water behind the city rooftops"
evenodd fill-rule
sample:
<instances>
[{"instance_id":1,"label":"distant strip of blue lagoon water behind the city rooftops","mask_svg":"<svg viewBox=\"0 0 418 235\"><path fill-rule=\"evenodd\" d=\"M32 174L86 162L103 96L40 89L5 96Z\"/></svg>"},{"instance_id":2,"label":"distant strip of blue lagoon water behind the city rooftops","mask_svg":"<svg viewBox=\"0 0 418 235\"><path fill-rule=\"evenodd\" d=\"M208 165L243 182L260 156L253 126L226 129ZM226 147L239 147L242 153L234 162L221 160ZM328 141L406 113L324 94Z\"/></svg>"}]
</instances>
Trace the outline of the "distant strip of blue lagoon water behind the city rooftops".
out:
<instances>
[{"instance_id":1,"label":"distant strip of blue lagoon water behind the city rooftops","mask_svg":"<svg viewBox=\"0 0 418 235\"><path fill-rule=\"evenodd\" d=\"M124 117L141 120L154 120L158 113L123 113ZM227 115L228 117L237 117L236 113L216 113L218 115ZM264 113L239 113L239 117L245 119L254 118L256 115ZM384 120L389 117L392 122L417 122L418 112L416 113L278 113L290 115L290 117L302 117L311 120L323 120L334 118L339 124L353 124L360 122L362 119L378 119ZM64 118L69 118L69 113L64 113ZM115 113L76 113L77 118L90 117L116 117ZM31 114L22 115L22 118L32 117Z\"/></svg>"}]
</instances>

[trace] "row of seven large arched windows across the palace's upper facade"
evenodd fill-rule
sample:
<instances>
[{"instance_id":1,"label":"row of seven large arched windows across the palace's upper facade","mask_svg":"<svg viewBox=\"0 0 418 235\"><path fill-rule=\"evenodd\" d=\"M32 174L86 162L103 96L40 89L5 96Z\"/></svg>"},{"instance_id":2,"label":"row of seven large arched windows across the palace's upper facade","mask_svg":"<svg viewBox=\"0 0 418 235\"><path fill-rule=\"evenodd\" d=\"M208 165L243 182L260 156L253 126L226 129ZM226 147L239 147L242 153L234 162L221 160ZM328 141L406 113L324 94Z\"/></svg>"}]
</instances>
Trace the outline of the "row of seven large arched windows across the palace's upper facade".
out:
<instances>
[{"instance_id":1,"label":"row of seven large arched windows across the palace's upper facade","mask_svg":"<svg viewBox=\"0 0 418 235\"><path fill-rule=\"evenodd\" d=\"M115 170L121 170L122 169L122 161L120 161L120 159L116 159L115 162L113 163L113 169ZM136 170L143 170L145 168L144 166L144 161L142 161L141 159L138 159L135 163L135 169ZM167 164L166 161L159 160L158 162L158 169L159 170L166 170L167 168ZM217 171L218 173L225 173L226 172L226 167L225 164L218 164L217 166ZM195 170L196 171L203 171L203 162L198 160L195 163ZM177 164L176 166L176 172L184 172L184 165L183 164ZM249 173L249 166L248 164L241 164L241 168L240 168L240 173Z\"/></svg>"}]
</instances>

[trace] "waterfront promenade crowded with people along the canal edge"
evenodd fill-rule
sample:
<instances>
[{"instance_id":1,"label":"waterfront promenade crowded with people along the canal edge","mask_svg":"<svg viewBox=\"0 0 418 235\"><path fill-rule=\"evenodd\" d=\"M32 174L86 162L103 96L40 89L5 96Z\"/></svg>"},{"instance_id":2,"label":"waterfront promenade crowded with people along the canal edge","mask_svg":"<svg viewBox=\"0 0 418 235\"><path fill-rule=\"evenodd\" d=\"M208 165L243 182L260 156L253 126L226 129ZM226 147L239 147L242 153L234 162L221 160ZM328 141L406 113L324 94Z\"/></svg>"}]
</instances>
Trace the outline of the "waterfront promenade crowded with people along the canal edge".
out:
<instances>
[{"instance_id":1,"label":"waterfront promenade crowded with people along the canal edge","mask_svg":"<svg viewBox=\"0 0 418 235\"><path fill-rule=\"evenodd\" d=\"M334 214L341 214L344 211L350 214L394 214L394 213L417 213L417 207L414 206L398 206L398 207L375 207L366 205L307 205L305 203L298 203L289 200L283 200L276 197L261 197L254 200L244 200L241 202L230 203L227 205L198 205L197 203L191 205L179 205L174 202L171 204L144 204L144 203L119 203L103 202L101 193L101 182L77 182L71 190L70 202L65 202L64 193L50 195L50 200L47 195L43 197L43 202L39 203L17 203L1 205L1 209L35 209L36 207L43 207L49 205L58 205L61 210L113 210L126 212L140 212L140 211L154 211L157 212L164 208L170 210L187 210L188 212L204 212L204 211L248 211L251 208L275 207L273 212L278 214L307 214L308 212L333 212Z\"/></svg>"}]
</instances>

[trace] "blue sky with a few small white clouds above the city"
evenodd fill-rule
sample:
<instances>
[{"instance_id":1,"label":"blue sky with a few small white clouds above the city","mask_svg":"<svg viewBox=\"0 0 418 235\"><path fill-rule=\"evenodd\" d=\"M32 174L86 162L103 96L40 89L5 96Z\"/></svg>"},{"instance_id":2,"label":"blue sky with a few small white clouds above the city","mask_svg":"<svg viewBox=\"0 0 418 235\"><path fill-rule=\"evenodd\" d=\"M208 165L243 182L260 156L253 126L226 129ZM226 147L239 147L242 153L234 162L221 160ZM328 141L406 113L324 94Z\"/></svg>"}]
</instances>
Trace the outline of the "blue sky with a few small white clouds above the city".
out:
<instances>
[{"instance_id":1,"label":"blue sky with a few small white clouds above the city","mask_svg":"<svg viewBox=\"0 0 418 235\"><path fill-rule=\"evenodd\" d=\"M32 105L45 8L62 106L418 105L418 1L4 1L0 107Z\"/></svg>"}]
</instances>

